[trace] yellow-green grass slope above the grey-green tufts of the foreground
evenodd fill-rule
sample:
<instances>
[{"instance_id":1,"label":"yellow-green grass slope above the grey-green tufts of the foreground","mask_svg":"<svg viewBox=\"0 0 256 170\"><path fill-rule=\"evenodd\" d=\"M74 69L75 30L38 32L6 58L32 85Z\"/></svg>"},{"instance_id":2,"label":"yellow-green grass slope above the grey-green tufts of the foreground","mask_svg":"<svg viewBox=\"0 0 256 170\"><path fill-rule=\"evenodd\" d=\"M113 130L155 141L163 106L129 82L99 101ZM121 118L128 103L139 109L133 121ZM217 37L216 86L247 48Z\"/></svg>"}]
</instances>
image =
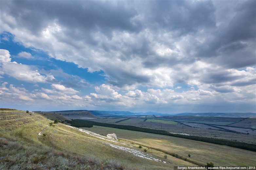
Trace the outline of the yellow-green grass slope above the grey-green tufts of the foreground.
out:
<instances>
[{"instance_id":1,"label":"yellow-green grass slope above the grey-green tufts of the foreground","mask_svg":"<svg viewBox=\"0 0 256 170\"><path fill-rule=\"evenodd\" d=\"M15 141L25 142L36 147L53 147L57 150L75 155L94 157L97 160L117 161L120 164L141 169L172 169L174 162L188 165L188 162L177 158L168 158L171 164L155 162L139 158L131 153L104 144L104 140L90 136L84 132L69 128L62 123L49 126L53 122L39 114L12 113L14 118L0 120L0 136ZM41 135L39 135L41 132ZM43 134L46 134L44 137ZM132 147L135 148L136 147ZM160 152L152 152L163 159Z\"/></svg>"}]
</instances>

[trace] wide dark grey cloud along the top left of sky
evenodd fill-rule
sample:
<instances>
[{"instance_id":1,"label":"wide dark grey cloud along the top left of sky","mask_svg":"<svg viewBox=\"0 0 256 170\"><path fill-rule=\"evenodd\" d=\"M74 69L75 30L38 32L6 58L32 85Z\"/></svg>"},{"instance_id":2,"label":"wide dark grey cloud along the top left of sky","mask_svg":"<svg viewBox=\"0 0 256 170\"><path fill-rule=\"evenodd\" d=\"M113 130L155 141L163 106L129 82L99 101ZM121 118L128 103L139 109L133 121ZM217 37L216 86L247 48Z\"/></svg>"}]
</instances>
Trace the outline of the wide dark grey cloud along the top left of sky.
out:
<instances>
[{"instance_id":1,"label":"wide dark grey cloud along the top left of sky","mask_svg":"<svg viewBox=\"0 0 256 170\"><path fill-rule=\"evenodd\" d=\"M107 1L1 1L3 13L19 20L20 27L26 27L39 34L45 26L56 21L68 28L67 35L73 39L83 39L91 31L101 31L106 35L114 29L136 31L130 19L136 16L135 9L126 8L119 2Z\"/></svg>"}]
</instances>

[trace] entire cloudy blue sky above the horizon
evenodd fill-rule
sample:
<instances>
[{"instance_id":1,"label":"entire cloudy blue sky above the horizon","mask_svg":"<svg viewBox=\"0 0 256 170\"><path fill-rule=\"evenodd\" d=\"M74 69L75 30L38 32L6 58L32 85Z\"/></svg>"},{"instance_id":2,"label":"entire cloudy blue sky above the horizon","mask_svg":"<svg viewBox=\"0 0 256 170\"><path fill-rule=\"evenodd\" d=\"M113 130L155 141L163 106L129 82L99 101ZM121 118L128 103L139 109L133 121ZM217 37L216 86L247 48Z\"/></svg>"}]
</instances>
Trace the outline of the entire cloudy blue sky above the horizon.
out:
<instances>
[{"instance_id":1,"label":"entire cloudy blue sky above the horizon","mask_svg":"<svg viewBox=\"0 0 256 170\"><path fill-rule=\"evenodd\" d=\"M256 112L256 1L0 1L0 107Z\"/></svg>"}]
</instances>

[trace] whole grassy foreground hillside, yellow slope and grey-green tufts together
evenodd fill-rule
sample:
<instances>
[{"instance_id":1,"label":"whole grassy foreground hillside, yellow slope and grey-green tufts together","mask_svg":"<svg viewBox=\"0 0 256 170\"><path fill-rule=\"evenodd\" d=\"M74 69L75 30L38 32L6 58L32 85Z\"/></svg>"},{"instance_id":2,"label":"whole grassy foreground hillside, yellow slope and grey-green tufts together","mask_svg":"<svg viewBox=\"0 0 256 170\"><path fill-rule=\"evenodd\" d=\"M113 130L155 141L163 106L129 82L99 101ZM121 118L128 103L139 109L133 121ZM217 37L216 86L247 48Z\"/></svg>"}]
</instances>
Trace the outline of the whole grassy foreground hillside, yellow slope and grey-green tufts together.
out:
<instances>
[{"instance_id":1,"label":"whole grassy foreground hillside, yellow slope and grey-green tufts together","mask_svg":"<svg viewBox=\"0 0 256 170\"><path fill-rule=\"evenodd\" d=\"M0 169L172 169L174 164L193 165L171 156L165 160L170 163L140 158L112 147L143 152L130 142L125 142L128 146L106 141L62 123L52 126L52 122L37 113L1 113ZM164 155L155 151L151 156L164 159Z\"/></svg>"}]
</instances>

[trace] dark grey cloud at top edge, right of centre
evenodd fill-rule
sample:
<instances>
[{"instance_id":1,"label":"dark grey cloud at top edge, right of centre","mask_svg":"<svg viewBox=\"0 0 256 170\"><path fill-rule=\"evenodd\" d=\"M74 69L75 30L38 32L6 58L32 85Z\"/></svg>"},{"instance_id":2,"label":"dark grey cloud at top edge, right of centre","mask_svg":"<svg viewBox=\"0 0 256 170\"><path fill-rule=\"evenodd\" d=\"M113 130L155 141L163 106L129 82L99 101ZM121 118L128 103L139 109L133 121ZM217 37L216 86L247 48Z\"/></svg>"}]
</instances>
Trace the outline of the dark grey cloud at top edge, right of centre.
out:
<instances>
[{"instance_id":1,"label":"dark grey cloud at top edge, right of centre","mask_svg":"<svg viewBox=\"0 0 256 170\"><path fill-rule=\"evenodd\" d=\"M142 1L138 4L146 18L144 25L175 31L175 36L215 27L211 1Z\"/></svg>"}]
</instances>

